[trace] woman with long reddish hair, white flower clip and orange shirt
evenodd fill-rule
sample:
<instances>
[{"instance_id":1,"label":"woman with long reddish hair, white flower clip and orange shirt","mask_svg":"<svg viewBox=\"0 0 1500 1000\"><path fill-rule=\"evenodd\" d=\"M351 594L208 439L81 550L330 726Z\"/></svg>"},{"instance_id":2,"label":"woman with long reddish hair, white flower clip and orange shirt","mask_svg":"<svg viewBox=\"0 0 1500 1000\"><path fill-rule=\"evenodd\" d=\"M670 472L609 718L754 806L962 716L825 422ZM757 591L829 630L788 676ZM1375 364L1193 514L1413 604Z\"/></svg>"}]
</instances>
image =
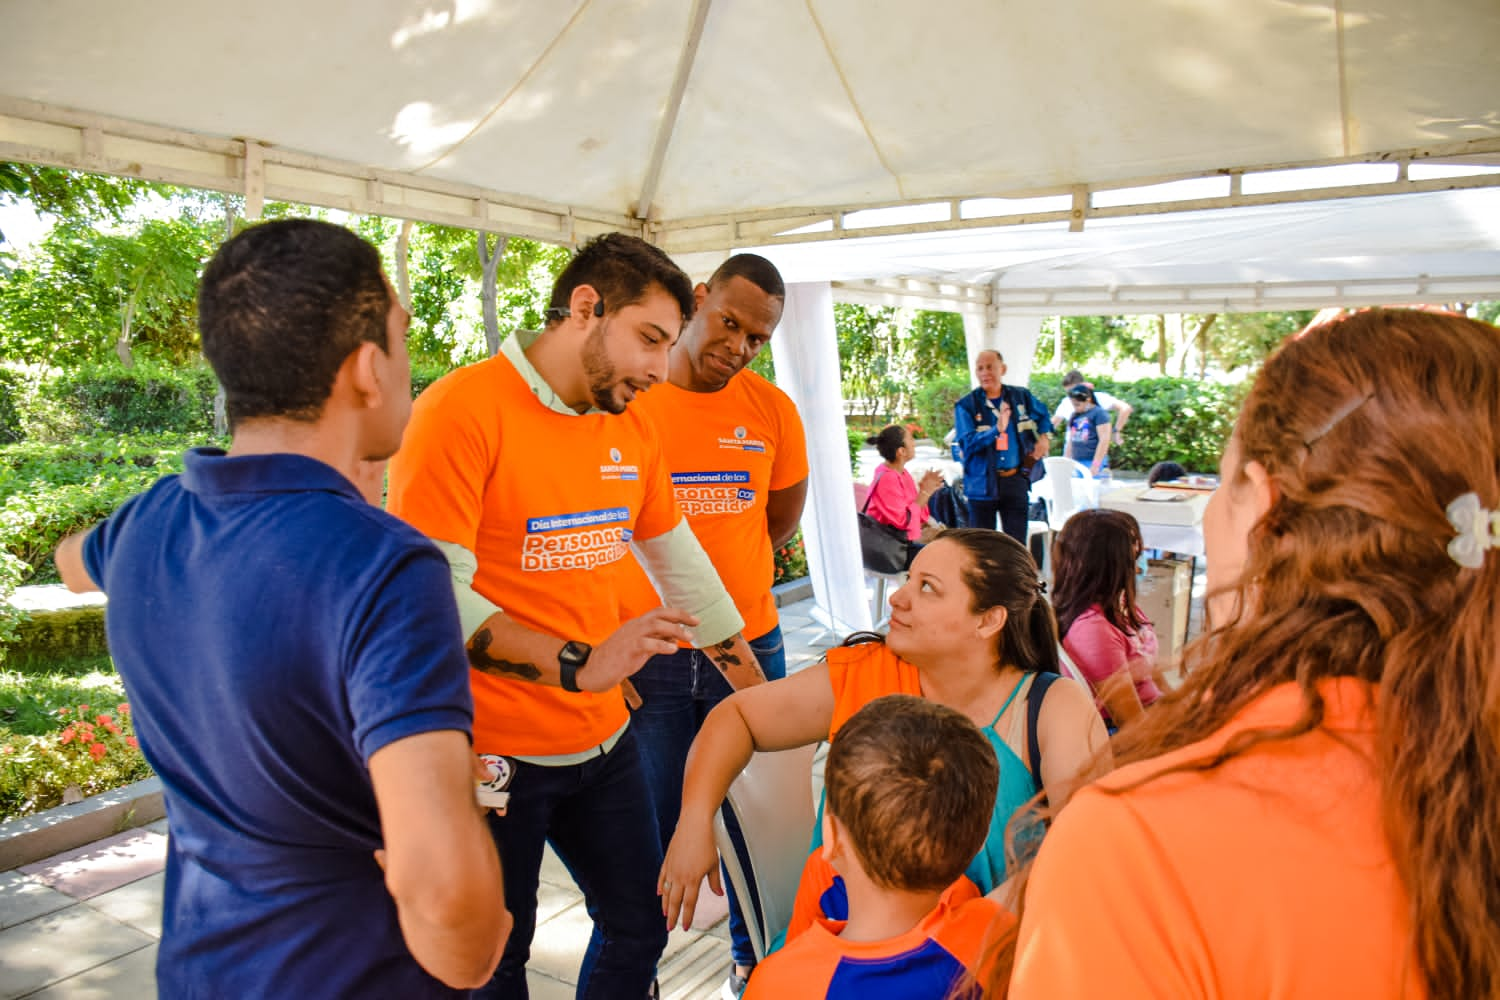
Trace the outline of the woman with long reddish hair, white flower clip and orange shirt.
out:
<instances>
[{"instance_id":1,"label":"woman with long reddish hair, white flower clip and orange shirt","mask_svg":"<svg viewBox=\"0 0 1500 1000\"><path fill-rule=\"evenodd\" d=\"M1266 361L1212 628L1048 832L1011 997L1500 997L1497 429L1500 331L1462 316Z\"/></svg>"}]
</instances>

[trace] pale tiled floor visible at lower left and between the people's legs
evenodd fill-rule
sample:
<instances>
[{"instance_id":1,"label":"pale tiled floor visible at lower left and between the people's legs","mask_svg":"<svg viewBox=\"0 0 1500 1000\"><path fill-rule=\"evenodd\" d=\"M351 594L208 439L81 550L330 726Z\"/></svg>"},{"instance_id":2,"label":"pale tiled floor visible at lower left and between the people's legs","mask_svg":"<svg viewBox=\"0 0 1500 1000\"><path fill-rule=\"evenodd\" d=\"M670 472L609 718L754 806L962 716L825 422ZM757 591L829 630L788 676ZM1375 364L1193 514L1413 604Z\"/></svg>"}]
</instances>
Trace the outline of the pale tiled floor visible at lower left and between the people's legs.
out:
<instances>
[{"instance_id":1,"label":"pale tiled floor visible at lower left and between the people's legs","mask_svg":"<svg viewBox=\"0 0 1500 1000\"><path fill-rule=\"evenodd\" d=\"M782 609L789 670L816 661L831 642L810 610L812 601ZM160 820L0 873L0 1000L154 997L165 852ZM717 997L729 972L724 904L706 891L704 898L711 903L694 928L674 931L662 960L662 996L670 1000ZM582 894L549 850L528 969L534 1000L573 997L590 930Z\"/></svg>"}]
</instances>

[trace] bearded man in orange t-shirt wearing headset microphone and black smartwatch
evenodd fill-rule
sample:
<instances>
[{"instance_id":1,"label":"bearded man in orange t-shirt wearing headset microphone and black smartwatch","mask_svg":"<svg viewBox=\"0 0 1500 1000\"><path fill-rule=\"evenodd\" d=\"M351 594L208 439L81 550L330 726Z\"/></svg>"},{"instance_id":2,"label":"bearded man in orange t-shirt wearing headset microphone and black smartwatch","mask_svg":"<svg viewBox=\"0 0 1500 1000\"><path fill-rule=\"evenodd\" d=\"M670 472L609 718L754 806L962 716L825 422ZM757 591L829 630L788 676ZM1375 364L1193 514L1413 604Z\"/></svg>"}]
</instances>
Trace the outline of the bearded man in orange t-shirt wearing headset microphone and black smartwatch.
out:
<instances>
[{"instance_id":1,"label":"bearded man in orange t-shirt wearing headset microphone and black smartwatch","mask_svg":"<svg viewBox=\"0 0 1500 1000\"><path fill-rule=\"evenodd\" d=\"M435 382L390 466L390 510L448 559L468 639L474 750L514 930L476 997L522 997L550 843L594 936L579 993L646 996L666 946L662 846L620 684L684 636L732 682L762 679L742 619L672 499L660 442L627 405L662 381L693 310L687 276L621 234L584 246L548 325ZM669 607L624 621L634 549Z\"/></svg>"}]
</instances>

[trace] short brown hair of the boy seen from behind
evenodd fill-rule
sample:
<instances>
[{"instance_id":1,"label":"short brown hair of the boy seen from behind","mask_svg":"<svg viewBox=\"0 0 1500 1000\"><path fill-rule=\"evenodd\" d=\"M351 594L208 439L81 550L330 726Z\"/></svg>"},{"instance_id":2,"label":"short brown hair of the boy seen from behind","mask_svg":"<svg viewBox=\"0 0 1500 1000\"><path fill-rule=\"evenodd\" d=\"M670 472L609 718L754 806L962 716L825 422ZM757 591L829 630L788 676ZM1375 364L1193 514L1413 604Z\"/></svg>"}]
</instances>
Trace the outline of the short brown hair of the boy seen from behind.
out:
<instances>
[{"instance_id":1,"label":"short brown hair of the boy seen from behind","mask_svg":"<svg viewBox=\"0 0 1500 1000\"><path fill-rule=\"evenodd\" d=\"M828 813L849 831L866 876L884 889L942 891L990 832L1000 766L962 712L912 697L874 699L834 736Z\"/></svg>"}]
</instances>

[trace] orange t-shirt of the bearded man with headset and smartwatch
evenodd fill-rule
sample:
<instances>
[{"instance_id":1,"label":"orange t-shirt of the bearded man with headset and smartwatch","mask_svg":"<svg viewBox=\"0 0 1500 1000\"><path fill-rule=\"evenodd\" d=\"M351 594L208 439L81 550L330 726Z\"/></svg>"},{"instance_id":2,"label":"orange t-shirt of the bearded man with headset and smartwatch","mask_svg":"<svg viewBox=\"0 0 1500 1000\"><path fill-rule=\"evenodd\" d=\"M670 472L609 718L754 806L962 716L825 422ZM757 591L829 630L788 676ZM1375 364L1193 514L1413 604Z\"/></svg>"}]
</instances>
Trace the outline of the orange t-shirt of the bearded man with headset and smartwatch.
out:
<instances>
[{"instance_id":1,"label":"orange t-shirt of the bearded man with headset and smartwatch","mask_svg":"<svg viewBox=\"0 0 1500 1000\"><path fill-rule=\"evenodd\" d=\"M632 537L654 538L681 520L650 424L633 409L556 412L504 354L417 399L390 463L388 508L472 552L474 591L513 619L591 645L620 627ZM470 682L478 753L578 753L627 718L618 688L570 693L476 670Z\"/></svg>"}]
</instances>

